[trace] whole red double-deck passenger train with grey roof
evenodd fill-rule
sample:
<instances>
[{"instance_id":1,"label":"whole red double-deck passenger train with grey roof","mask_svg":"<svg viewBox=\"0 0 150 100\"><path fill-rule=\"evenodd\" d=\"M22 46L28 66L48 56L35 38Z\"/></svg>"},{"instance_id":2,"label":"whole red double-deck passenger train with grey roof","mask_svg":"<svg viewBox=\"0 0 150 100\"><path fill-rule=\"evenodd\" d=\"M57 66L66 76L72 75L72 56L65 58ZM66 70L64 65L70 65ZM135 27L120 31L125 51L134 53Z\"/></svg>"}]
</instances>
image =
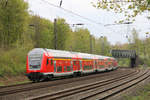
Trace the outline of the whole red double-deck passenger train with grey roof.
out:
<instances>
[{"instance_id":1,"label":"whole red double-deck passenger train with grey roof","mask_svg":"<svg viewBox=\"0 0 150 100\"><path fill-rule=\"evenodd\" d=\"M34 82L57 76L113 70L115 58L86 53L35 48L27 55L27 77Z\"/></svg>"}]
</instances>

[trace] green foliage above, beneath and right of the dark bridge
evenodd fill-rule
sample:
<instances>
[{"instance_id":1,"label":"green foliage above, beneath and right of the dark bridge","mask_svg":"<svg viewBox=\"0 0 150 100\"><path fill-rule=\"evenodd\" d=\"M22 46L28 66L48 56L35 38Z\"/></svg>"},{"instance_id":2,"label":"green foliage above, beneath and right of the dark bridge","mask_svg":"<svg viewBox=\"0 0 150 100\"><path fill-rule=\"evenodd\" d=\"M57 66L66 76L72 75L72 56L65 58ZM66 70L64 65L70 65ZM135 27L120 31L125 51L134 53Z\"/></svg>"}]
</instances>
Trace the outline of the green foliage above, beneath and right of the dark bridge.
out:
<instances>
[{"instance_id":1,"label":"green foliage above, beneath and right of the dark bridge","mask_svg":"<svg viewBox=\"0 0 150 100\"><path fill-rule=\"evenodd\" d=\"M113 49L124 49L124 50L135 50L138 55L138 63L139 66L150 66L150 38L145 38L144 40L139 39L138 32L133 29L132 30L132 36L128 38L129 44L116 44L112 48ZM148 32L145 33L145 35L149 35ZM120 66L128 66L129 61L127 59L125 60L119 60Z\"/></svg>"}]
</instances>

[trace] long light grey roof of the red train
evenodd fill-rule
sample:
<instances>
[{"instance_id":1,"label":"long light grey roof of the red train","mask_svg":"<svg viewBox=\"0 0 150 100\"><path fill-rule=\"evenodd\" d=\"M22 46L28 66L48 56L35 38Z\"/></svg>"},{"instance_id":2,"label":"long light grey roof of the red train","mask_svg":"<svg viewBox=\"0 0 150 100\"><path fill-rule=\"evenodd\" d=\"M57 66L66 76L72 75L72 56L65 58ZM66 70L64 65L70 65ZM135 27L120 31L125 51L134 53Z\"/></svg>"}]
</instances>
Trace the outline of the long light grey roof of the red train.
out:
<instances>
[{"instance_id":1,"label":"long light grey roof of the red train","mask_svg":"<svg viewBox=\"0 0 150 100\"><path fill-rule=\"evenodd\" d=\"M29 54L32 53L48 53L49 56L52 57L62 57L62 58L81 58L81 59L114 59L113 57L108 56L101 56L95 54L88 54L88 53L80 53L80 52L71 52L71 51L64 51L64 50L53 50L53 49L43 49L43 48L34 48L32 49Z\"/></svg>"}]
</instances>

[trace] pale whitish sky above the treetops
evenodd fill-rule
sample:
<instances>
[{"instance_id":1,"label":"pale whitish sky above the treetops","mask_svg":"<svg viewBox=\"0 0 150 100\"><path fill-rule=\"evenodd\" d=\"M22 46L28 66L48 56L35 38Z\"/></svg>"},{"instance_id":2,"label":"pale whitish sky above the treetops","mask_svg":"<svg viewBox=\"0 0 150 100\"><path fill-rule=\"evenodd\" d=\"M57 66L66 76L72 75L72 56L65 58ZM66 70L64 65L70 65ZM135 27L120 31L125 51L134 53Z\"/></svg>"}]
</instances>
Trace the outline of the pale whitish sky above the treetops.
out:
<instances>
[{"instance_id":1,"label":"pale whitish sky above the treetops","mask_svg":"<svg viewBox=\"0 0 150 100\"><path fill-rule=\"evenodd\" d=\"M51 21L54 18L64 18L70 27L72 24L83 23L83 26L76 26L87 28L95 37L106 36L111 44L127 43L126 35L131 36L131 30L135 28L141 39L145 38L145 33L150 32L150 20L146 18L147 12L138 15L135 22L130 25L111 25L115 21L124 18L123 14L116 14L113 11L106 11L96 9L91 2L97 0L63 0L61 8L51 6L47 2L59 6L60 0L25 0L29 3L29 10L32 14L39 15ZM72 13L64 11L62 8L74 12L78 15L88 18L76 16ZM150 13L150 12L149 12ZM92 20L92 21L91 21ZM72 27L74 29L74 27Z\"/></svg>"}]
</instances>

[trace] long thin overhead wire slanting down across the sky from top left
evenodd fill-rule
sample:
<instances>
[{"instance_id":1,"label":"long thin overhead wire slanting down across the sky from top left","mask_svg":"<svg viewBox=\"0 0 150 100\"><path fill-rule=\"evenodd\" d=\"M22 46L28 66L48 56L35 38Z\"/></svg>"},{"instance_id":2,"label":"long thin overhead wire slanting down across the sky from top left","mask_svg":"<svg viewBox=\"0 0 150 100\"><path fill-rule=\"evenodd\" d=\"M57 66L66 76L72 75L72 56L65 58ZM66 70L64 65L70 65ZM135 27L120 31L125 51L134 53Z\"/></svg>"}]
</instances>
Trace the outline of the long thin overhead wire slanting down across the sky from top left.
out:
<instances>
[{"instance_id":1,"label":"long thin overhead wire slanting down across the sky from top left","mask_svg":"<svg viewBox=\"0 0 150 100\"><path fill-rule=\"evenodd\" d=\"M56 7L56 8L62 9L62 10L64 10L65 12L68 12L68 13L71 13L71 14L76 15L76 16L78 16L78 17L81 17L82 19L88 20L88 21L90 21L90 22L92 22L92 23L95 23L95 24L98 24L98 25L103 25L102 23L98 23L98 22L97 22L97 21L95 21L95 20L92 20L92 19L89 19L89 18L84 17L84 16L82 16L82 15L79 15L79 14L77 14L77 13L75 13L75 12L71 11L71 10L68 10L68 9L62 8L62 7L57 6L57 5L54 5L54 4L52 4L52 3L50 3L50 2L48 2L48 1L46 1L46 0L41 0L41 1L43 1L43 2L45 2L45 3L47 3L47 4L49 4L49 5L51 5L51 6L53 6L53 7Z\"/></svg>"}]
</instances>

